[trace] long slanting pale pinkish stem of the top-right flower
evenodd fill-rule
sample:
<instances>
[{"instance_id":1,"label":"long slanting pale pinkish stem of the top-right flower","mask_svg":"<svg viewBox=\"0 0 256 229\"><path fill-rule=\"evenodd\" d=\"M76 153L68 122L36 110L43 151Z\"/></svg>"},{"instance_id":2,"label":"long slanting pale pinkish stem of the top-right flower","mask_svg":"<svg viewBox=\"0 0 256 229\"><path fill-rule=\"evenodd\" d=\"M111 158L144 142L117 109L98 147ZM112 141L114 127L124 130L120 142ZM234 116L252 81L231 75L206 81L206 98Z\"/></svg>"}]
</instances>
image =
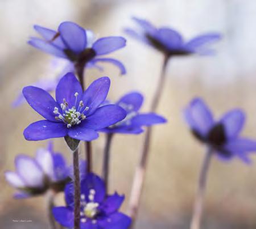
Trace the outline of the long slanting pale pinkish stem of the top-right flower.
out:
<instances>
[{"instance_id":1,"label":"long slanting pale pinkish stem of the top-right flower","mask_svg":"<svg viewBox=\"0 0 256 229\"><path fill-rule=\"evenodd\" d=\"M160 101L160 97L162 96L163 86L166 82L166 67L167 67L168 60L169 60L169 56L164 56L164 61L163 61L163 66L162 66L162 71L160 74L158 86L156 87L156 91L152 99L152 104L150 109L151 112L156 111L156 108L158 107L158 104ZM145 138L144 138L141 158L136 168L134 179L133 179L133 185L131 188L130 203L129 203L128 211L129 211L130 217L133 219L133 224L137 218L139 202L141 200L143 183L144 183L145 173L146 173L148 152L150 149L151 134L152 134L152 128L148 127L148 129L146 130ZM131 228L133 228L133 226L131 226Z\"/></svg>"}]
</instances>

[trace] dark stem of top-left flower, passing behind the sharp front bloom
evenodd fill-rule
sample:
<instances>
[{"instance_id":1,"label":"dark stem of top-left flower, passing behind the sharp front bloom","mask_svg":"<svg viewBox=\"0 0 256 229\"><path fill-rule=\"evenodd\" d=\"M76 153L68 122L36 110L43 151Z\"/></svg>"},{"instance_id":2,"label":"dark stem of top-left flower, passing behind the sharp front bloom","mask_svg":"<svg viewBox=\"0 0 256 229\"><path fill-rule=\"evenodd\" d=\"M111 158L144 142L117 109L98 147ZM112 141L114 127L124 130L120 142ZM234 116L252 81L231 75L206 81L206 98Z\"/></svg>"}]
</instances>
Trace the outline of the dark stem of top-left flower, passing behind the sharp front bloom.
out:
<instances>
[{"instance_id":1,"label":"dark stem of top-left flower, passing behind the sharp front bloom","mask_svg":"<svg viewBox=\"0 0 256 229\"><path fill-rule=\"evenodd\" d=\"M76 74L79 78L79 81L82 86L82 91L85 90L85 80L84 80L84 70L85 70L86 62L77 62L75 65ZM90 142L85 142L85 158L87 160L87 171L92 171L92 144Z\"/></svg>"}]
</instances>

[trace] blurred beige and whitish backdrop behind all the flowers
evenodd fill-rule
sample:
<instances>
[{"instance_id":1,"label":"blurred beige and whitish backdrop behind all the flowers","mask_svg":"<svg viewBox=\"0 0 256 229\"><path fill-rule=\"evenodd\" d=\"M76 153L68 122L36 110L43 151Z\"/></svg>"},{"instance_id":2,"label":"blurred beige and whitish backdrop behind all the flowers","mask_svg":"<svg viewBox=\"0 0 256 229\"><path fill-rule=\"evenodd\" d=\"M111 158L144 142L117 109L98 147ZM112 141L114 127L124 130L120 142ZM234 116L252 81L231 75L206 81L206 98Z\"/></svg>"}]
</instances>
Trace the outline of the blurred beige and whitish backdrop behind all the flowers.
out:
<instances>
[{"instance_id":1,"label":"blurred beige and whitish backdrop behind all the flowers","mask_svg":"<svg viewBox=\"0 0 256 229\"><path fill-rule=\"evenodd\" d=\"M136 228L188 228L195 196L197 175L204 156L201 146L189 133L181 110L194 97L203 97L219 117L234 107L247 114L243 134L256 138L256 2L254 0L2 0L0 1L0 228L47 228L43 197L14 200L5 181L6 169L14 169L19 153L34 155L47 141L27 142L23 129L39 115L27 105L11 104L23 86L38 79L54 77L53 58L26 44L35 35L34 24L57 28L71 20L92 29L98 37L123 35L134 27L131 16L150 20L156 26L170 26L185 39L204 32L220 32L223 39L214 45L215 56L173 58L163 88L158 113L168 124L154 128L146 184ZM86 70L86 82L107 75L112 80L109 98L118 99L130 90L145 96L147 111L158 80L162 55L127 37L127 46L111 55L125 63L127 75L120 77L115 67L105 71ZM105 136L93 142L94 168L101 171ZM126 194L142 147L143 134L116 135L111 162L111 190ZM63 139L55 139L55 149L71 161ZM81 157L83 155L81 154ZM256 163L256 155L251 155ZM254 163L254 164L255 164ZM203 228L256 228L256 165L239 160L226 164L213 160L210 167ZM59 200L61 202L61 196ZM28 219L30 223L14 223Z\"/></svg>"}]
</instances>

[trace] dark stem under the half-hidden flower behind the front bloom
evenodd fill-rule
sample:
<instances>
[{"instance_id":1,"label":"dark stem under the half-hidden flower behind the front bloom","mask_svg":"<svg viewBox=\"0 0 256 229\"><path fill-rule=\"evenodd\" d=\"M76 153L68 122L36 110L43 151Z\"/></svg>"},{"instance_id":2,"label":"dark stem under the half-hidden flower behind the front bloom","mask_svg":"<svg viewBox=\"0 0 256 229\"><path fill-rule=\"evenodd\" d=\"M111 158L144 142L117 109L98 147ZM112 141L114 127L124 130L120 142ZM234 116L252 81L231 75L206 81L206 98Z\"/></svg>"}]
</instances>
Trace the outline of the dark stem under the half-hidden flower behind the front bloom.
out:
<instances>
[{"instance_id":1,"label":"dark stem under the half-hidden flower behind the front bloom","mask_svg":"<svg viewBox=\"0 0 256 229\"><path fill-rule=\"evenodd\" d=\"M106 144L104 150L104 159L102 167L102 177L105 181L106 193L109 187L109 159L110 159L110 146L113 139L113 134L106 134Z\"/></svg>"}]
</instances>

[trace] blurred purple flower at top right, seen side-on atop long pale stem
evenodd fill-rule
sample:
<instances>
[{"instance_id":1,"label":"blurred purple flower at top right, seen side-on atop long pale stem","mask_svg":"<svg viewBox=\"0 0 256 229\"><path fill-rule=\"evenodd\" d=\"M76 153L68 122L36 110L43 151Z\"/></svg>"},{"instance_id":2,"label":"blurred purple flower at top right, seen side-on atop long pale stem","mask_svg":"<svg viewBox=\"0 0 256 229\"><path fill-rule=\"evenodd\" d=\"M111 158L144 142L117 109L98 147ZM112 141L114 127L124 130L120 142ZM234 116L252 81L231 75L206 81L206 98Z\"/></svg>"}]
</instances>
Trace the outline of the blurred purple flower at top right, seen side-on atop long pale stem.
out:
<instances>
[{"instance_id":1,"label":"blurred purple flower at top right, seen side-on atop long pale stem","mask_svg":"<svg viewBox=\"0 0 256 229\"><path fill-rule=\"evenodd\" d=\"M126 33L143 43L153 46L166 56L187 55L192 53L210 54L213 50L206 49L205 45L220 40L219 33L206 33L185 42L183 37L174 29L167 27L156 28L146 20L133 18L140 29L125 29Z\"/></svg>"}]
</instances>

